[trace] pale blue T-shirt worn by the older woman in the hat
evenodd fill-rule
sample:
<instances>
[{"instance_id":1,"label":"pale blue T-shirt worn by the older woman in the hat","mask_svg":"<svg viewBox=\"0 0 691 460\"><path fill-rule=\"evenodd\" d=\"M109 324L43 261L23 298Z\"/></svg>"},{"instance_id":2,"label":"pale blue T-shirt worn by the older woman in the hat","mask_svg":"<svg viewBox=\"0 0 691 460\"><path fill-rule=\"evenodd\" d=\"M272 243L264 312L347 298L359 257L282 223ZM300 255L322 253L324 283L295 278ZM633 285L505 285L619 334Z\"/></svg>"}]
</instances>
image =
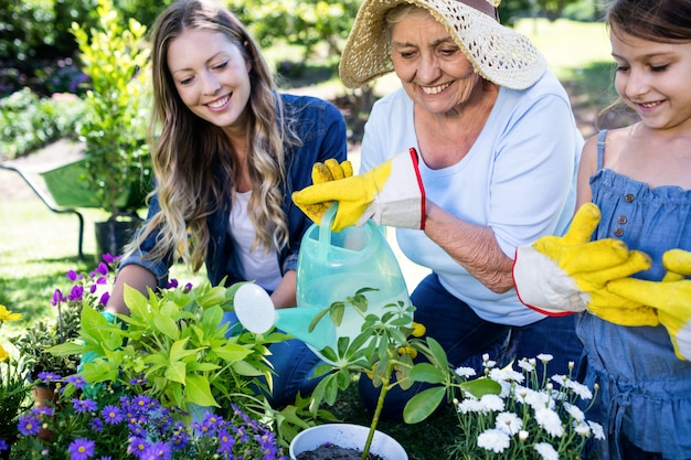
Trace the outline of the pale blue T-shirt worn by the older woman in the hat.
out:
<instances>
[{"instance_id":1,"label":"pale blue T-shirt worn by the older woman in the hat","mask_svg":"<svg viewBox=\"0 0 691 460\"><path fill-rule=\"evenodd\" d=\"M401 88L372 108L361 172L411 147L419 152L413 101ZM575 206L582 147L568 96L546 73L528 89L500 88L486 126L461 161L438 170L421 161L419 170L432 202L492 228L501 249L513 258L517 246L566 228ZM398 228L396 237L411 260L435 271L449 292L485 320L525 325L544 318L523 306L513 289L490 291L424 232Z\"/></svg>"}]
</instances>

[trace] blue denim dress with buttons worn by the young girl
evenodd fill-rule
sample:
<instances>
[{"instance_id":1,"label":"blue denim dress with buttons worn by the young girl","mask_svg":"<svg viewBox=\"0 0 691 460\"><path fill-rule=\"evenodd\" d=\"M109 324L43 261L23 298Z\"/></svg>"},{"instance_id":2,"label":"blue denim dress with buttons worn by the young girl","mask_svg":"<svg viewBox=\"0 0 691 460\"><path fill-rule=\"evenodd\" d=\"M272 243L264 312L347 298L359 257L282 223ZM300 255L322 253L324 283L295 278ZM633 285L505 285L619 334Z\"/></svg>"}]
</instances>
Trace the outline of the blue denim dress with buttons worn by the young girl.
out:
<instances>
[{"instance_id":1,"label":"blue denim dress with buttons worn by the young girl","mask_svg":"<svg viewBox=\"0 0 691 460\"><path fill-rule=\"evenodd\" d=\"M653 266L637 277L660 280L666 250L691 250L691 191L650 190L603 169L605 137L600 131L598 171L591 176L593 202L602 211L594 238L618 238L646 252ZM620 449L625 435L665 459L691 459L691 362L674 355L667 330L621 327L587 313L578 315L576 329L587 353L585 383L599 385L597 411L588 415L599 416L607 434L600 458L629 460Z\"/></svg>"}]
</instances>

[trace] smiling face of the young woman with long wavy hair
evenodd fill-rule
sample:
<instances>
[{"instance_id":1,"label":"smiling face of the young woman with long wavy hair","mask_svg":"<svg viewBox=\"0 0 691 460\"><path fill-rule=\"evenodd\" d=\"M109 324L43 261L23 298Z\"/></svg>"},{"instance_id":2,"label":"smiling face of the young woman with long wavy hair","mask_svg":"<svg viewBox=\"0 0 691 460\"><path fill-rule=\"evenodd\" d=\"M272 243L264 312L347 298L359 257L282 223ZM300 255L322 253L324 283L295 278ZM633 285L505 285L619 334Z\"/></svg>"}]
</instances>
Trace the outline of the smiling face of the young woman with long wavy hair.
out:
<instances>
[{"instance_id":1,"label":"smiling face of the young woman with long wavy hair","mask_svg":"<svg viewBox=\"0 0 691 460\"><path fill-rule=\"evenodd\" d=\"M244 130L251 64L223 33L185 30L170 42L168 68L185 106L221 128Z\"/></svg>"}]
</instances>

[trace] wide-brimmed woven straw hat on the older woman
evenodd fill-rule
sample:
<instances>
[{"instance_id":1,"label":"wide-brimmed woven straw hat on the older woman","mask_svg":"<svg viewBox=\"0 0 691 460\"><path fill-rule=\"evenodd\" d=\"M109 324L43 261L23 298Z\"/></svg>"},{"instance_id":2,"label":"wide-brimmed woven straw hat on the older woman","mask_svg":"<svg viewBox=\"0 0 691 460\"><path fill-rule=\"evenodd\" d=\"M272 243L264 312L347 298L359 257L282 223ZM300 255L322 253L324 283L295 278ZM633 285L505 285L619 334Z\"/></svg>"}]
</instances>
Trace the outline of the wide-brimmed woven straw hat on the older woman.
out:
<instances>
[{"instance_id":1,"label":"wide-brimmed woven straw hat on the older woman","mask_svg":"<svg viewBox=\"0 0 691 460\"><path fill-rule=\"evenodd\" d=\"M528 88L545 72L546 62L527 36L499 23L500 1L364 0L341 55L341 81L357 88L393 71L386 12L411 3L446 28L482 77L512 89Z\"/></svg>"}]
</instances>

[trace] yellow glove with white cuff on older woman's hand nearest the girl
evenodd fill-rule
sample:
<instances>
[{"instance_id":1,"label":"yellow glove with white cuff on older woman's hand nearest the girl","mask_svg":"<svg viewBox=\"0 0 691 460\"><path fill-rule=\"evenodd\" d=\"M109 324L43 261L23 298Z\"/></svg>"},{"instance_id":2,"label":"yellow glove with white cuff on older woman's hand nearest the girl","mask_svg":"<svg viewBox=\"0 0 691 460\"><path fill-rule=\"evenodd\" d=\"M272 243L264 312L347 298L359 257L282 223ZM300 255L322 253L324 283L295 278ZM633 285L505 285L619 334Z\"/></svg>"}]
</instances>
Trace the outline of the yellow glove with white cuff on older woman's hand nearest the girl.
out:
<instances>
[{"instance_id":1,"label":"yellow glove with white cuff on older woman's hand nearest the girl","mask_svg":"<svg viewBox=\"0 0 691 460\"><path fill-rule=\"evenodd\" d=\"M650 268L650 258L629 252L618 239L591 242L599 223L599 208L584 204L564 236L543 236L515 250L513 284L521 302L550 315L593 308L607 321L628 321L640 303L605 289L607 281ZM645 313L642 313L645 315ZM646 315L645 321L650 321Z\"/></svg>"}]
</instances>

